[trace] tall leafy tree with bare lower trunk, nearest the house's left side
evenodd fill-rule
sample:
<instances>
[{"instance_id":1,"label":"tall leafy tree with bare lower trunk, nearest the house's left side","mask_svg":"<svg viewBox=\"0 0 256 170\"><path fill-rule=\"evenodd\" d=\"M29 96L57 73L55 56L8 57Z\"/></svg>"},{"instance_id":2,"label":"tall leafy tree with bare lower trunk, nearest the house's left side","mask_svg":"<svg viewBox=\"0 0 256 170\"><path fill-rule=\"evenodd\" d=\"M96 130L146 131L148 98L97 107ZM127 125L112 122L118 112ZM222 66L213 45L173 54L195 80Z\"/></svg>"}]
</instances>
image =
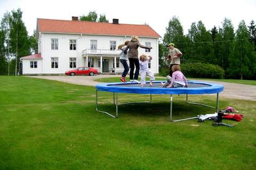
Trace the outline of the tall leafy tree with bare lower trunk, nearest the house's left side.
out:
<instances>
[{"instance_id":1,"label":"tall leafy tree with bare lower trunk, nearest the house's left side","mask_svg":"<svg viewBox=\"0 0 256 170\"><path fill-rule=\"evenodd\" d=\"M30 54L28 32L22 21L20 8L17 11L12 11L10 23L10 49L15 54L15 75L17 75L18 71L21 72L20 57Z\"/></svg>"}]
</instances>

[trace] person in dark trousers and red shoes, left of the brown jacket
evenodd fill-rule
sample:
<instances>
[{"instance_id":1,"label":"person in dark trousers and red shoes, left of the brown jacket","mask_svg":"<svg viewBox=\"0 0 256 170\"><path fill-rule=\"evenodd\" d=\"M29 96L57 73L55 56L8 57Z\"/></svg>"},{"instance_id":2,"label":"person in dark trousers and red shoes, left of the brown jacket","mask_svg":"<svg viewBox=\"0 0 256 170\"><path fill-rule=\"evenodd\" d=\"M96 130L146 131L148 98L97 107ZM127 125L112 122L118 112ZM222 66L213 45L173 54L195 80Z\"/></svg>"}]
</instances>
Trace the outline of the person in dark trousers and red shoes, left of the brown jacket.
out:
<instances>
[{"instance_id":1,"label":"person in dark trousers and red shoes, left of the brown jacket","mask_svg":"<svg viewBox=\"0 0 256 170\"><path fill-rule=\"evenodd\" d=\"M127 60L128 60L128 54L124 54L124 49L126 48L127 44L129 43L130 41L125 41L124 44L122 45L119 45L118 46L118 49L121 50L121 53L120 53L120 62L123 64L124 66L124 71L122 73L122 78L120 79L122 82L126 82L125 80L125 77L127 75L127 73L129 72L129 66L127 64Z\"/></svg>"}]
</instances>

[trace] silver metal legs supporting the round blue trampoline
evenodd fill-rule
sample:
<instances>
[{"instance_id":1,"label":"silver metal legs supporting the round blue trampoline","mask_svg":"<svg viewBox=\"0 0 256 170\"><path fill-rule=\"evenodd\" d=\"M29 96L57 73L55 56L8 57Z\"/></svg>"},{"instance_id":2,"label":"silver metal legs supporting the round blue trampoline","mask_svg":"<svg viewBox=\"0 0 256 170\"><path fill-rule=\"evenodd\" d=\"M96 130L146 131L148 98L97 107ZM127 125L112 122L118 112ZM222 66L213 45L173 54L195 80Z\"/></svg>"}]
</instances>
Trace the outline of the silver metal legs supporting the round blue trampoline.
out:
<instances>
[{"instance_id":1,"label":"silver metal legs supporting the round blue trampoline","mask_svg":"<svg viewBox=\"0 0 256 170\"><path fill-rule=\"evenodd\" d=\"M133 103L152 103L152 94L150 94L150 100L149 101L133 101L133 102L129 102L129 103L122 103L122 104L118 104L118 92L113 92L113 104L116 106L116 115L112 115L106 111L100 111L100 109L98 108L98 90L96 89L96 111L101 112L101 113L105 113L111 117L117 118L118 117L118 105L127 105L127 104L133 104ZM109 91L108 91L109 92ZM215 94L215 93L214 93ZM188 101L188 94L186 94L186 101L188 104L194 104L194 105L201 105L201 106L205 106L205 107L211 107L211 108L216 108L216 113L218 113L219 110L219 92L216 93L216 106L209 106L209 105L205 105L205 104L201 104L201 103L193 103L193 102L189 102ZM179 94L178 94L179 95ZM178 122L178 121L186 121L186 120L191 120L194 118L198 118L198 116L196 117L188 117L188 118L183 118L183 119L179 119L179 120L174 120L172 117L172 102L173 102L173 94L170 95L170 119L172 122Z\"/></svg>"}]
</instances>

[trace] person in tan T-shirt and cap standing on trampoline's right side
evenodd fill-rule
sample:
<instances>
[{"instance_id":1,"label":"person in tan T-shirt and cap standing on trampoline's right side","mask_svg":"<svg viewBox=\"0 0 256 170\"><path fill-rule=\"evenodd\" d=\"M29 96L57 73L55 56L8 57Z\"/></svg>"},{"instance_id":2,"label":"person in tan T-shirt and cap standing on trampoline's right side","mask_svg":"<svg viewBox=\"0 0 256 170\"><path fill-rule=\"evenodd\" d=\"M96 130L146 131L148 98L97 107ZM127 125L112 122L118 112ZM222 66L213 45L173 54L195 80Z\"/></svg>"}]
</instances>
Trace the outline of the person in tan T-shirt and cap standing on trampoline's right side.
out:
<instances>
[{"instance_id":1,"label":"person in tan T-shirt and cap standing on trampoline's right side","mask_svg":"<svg viewBox=\"0 0 256 170\"><path fill-rule=\"evenodd\" d=\"M172 77L172 73L173 73L172 66L180 65L180 56L182 56L182 53L178 48L174 48L173 43L170 43L169 45L167 45L167 47L169 49L167 60L171 60L169 75Z\"/></svg>"}]
</instances>

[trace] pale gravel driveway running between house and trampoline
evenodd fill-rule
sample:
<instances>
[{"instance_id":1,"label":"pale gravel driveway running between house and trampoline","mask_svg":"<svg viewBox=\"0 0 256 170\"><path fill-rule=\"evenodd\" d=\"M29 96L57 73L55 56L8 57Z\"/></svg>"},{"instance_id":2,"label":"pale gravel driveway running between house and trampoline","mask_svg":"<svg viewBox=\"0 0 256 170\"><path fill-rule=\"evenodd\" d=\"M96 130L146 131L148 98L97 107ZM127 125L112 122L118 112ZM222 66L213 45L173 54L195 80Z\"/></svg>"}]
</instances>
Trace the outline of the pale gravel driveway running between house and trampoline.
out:
<instances>
[{"instance_id":1,"label":"pale gravel driveway running between house and trampoline","mask_svg":"<svg viewBox=\"0 0 256 170\"><path fill-rule=\"evenodd\" d=\"M29 76L33 78L57 80L67 83L80 84L85 86L95 86L99 82L94 81L100 78L114 78L120 77L120 75L94 75L94 76L66 76L66 75L52 75L52 76ZM245 99L245 100L255 100L256 101L256 86L227 83L227 82L217 82L217 81L206 81L222 84L224 86L224 91L220 93L220 97L234 98L234 99Z\"/></svg>"}]
</instances>

